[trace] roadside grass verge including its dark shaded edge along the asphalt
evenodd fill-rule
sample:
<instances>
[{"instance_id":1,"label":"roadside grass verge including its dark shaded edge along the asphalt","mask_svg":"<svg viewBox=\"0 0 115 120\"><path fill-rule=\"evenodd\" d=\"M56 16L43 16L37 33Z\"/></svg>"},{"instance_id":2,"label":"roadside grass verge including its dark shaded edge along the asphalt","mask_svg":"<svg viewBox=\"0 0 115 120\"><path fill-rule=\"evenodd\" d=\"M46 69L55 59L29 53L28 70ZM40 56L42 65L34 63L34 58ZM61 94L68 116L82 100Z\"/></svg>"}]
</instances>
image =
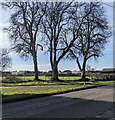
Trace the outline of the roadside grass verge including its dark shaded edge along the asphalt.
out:
<instances>
[{"instance_id":1,"label":"roadside grass verge including its dark shaded edge along the asphalt","mask_svg":"<svg viewBox=\"0 0 115 120\"><path fill-rule=\"evenodd\" d=\"M25 98L34 98L40 95L50 95L55 93L62 93L67 91L78 90L87 88L87 86L45 86L45 87L21 87L21 88L3 88L2 89L2 100L3 102L16 101Z\"/></svg>"}]
</instances>

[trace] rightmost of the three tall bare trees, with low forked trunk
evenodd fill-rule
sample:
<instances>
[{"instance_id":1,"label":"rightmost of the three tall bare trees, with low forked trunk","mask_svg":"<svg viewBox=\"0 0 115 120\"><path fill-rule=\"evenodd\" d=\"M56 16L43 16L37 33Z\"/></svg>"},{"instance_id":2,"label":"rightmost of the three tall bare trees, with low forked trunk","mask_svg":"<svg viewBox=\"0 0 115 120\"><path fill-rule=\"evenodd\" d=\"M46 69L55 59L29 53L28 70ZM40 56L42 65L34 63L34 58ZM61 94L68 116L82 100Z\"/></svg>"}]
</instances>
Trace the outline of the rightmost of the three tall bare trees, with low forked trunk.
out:
<instances>
[{"instance_id":1,"label":"rightmost of the three tall bare trees, with low forked trunk","mask_svg":"<svg viewBox=\"0 0 115 120\"><path fill-rule=\"evenodd\" d=\"M79 37L74 42L67 57L76 60L82 80L85 80L87 61L102 56L105 44L111 36L111 30L106 18L106 12L100 2L85 3L81 15L88 14L79 30Z\"/></svg>"}]
</instances>

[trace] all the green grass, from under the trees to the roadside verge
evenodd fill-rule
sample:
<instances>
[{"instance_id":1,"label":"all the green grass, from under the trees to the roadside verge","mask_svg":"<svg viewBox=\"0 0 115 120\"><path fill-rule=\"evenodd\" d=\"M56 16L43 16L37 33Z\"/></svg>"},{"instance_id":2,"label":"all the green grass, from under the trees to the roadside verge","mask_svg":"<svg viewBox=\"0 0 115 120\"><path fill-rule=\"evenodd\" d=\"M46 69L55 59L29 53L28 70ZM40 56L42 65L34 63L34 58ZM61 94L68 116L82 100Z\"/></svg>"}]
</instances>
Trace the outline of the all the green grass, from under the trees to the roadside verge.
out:
<instances>
[{"instance_id":1,"label":"all the green grass, from under the trees to the roadside verge","mask_svg":"<svg viewBox=\"0 0 115 120\"><path fill-rule=\"evenodd\" d=\"M3 86L20 86L13 88L2 88L1 94L3 102L15 101L20 99L34 98L40 95L49 95L65 91L77 90L89 86L100 84L112 84L115 80L111 81L96 81L96 82L80 82L80 77L59 77L62 81L52 82L50 77L40 76L41 81L34 81L33 76L19 76L18 78L24 79L22 83L2 83ZM64 79L63 79L64 78ZM84 86L85 84L85 86ZM33 86L33 87L32 87Z\"/></svg>"}]
</instances>

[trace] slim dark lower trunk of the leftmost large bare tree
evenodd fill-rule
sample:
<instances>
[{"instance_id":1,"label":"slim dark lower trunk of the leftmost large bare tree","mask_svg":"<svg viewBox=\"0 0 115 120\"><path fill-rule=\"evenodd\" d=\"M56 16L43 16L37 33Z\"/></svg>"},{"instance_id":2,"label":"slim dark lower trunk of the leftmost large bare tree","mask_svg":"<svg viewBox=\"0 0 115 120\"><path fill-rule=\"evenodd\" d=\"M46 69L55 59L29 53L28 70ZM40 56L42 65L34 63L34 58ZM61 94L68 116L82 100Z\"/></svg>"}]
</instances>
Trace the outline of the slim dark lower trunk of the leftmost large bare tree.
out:
<instances>
[{"instance_id":1,"label":"slim dark lower trunk of the leftmost large bare tree","mask_svg":"<svg viewBox=\"0 0 115 120\"><path fill-rule=\"evenodd\" d=\"M37 55L36 53L34 54L33 57L33 62L34 62L34 80L38 81L38 63L37 63Z\"/></svg>"}]
</instances>

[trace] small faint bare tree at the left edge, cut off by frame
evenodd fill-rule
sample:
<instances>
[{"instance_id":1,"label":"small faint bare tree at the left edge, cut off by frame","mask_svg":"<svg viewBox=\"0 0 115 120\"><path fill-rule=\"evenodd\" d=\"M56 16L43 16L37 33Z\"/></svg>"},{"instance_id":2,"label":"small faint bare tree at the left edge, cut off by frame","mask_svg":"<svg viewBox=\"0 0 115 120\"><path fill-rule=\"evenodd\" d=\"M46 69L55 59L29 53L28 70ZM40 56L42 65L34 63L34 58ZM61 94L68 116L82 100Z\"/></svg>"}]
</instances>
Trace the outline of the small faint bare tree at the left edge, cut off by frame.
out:
<instances>
[{"instance_id":1,"label":"small faint bare tree at the left edge, cut off by frame","mask_svg":"<svg viewBox=\"0 0 115 120\"><path fill-rule=\"evenodd\" d=\"M12 59L8 54L9 51L5 48L0 51L0 68L2 73L12 65Z\"/></svg>"}]
</instances>

